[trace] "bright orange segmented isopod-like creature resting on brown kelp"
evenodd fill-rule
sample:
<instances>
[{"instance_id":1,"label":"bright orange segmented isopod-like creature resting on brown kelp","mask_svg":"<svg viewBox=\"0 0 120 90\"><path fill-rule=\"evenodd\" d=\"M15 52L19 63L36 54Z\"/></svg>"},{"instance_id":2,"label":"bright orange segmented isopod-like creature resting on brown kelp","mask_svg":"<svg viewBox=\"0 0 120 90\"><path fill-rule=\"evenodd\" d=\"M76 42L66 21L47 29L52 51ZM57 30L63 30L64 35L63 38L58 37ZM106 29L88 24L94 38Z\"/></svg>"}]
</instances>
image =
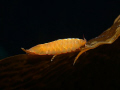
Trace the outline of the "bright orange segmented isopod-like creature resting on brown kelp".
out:
<instances>
[{"instance_id":1,"label":"bright orange segmented isopod-like creature resting on brown kelp","mask_svg":"<svg viewBox=\"0 0 120 90\"><path fill-rule=\"evenodd\" d=\"M21 48L28 54L31 55L53 55L51 61L55 56L67 52L72 52L80 49L81 46L85 46L86 39L78 38L68 38L68 39L58 39L49 43L36 45L28 50ZM76 61L74 61L75 63Z\"/></svg>"}]
</instances>

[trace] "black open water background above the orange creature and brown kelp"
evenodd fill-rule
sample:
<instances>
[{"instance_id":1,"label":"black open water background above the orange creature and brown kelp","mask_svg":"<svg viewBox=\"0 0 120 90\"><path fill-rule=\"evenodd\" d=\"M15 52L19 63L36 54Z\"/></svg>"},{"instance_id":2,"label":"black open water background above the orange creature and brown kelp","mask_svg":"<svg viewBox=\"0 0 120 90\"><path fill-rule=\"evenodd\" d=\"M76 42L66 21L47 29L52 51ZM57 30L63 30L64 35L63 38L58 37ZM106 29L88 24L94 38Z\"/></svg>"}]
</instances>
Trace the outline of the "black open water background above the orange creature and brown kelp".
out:
<instances>
[{"instance_id":1,"label":"black open water background above the orange creature and brown kelp","mask_svg":"<svg viewBox=\"0 0 120 90\"><path fill-rule=\"evenodd\" d=\"M90 40L108 29L120 14L120 3L112 1L3 0L0 18L0 59L23 54L57 39Z\"/></svg>"}]
</instances>

